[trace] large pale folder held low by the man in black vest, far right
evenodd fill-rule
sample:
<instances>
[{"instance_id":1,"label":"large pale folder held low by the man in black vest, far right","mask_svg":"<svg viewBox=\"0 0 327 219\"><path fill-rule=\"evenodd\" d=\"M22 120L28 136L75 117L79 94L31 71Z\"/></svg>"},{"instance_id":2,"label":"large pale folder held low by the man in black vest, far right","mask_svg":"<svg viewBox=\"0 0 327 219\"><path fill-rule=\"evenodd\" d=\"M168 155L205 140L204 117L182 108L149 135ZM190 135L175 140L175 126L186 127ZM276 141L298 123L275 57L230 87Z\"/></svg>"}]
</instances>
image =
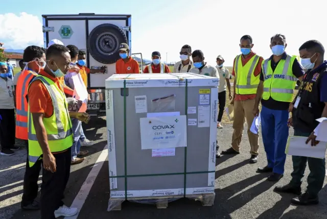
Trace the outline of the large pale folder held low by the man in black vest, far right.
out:
<instances>
[{"instance_id":1,"label":"large pale folder held low by the man in black vest, far right","mask_svg":"<svg viewBox=\"0 0 327 219\"><path fill-rule=\"evenodd\" d=\"M287 140L285 153L293 156L314 157L323 159L325 157L327 143L319 142L316 146L306 144L308 137L290 136Z\"/></svg>"}]
</instances>

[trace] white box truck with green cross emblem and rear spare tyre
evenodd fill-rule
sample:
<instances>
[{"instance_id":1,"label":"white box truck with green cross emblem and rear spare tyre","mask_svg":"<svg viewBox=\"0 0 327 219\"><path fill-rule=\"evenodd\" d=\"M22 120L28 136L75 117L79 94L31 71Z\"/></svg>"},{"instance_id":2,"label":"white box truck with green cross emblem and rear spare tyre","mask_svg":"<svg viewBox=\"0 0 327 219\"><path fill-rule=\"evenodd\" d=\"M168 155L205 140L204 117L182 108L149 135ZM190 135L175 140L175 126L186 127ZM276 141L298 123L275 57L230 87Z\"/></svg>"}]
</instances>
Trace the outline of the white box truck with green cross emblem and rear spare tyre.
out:
<instances>
[{"instance_id":1,"label":"white box truck with green cross emblem and rear spare tyre","mask_svg":"<svg viewBox=\"0 0 327 219\"><path fill-rule=\"evenodd\" d=\"M105 66L104 73L87 76L91 99L87 112L104 115L105 80L115 74L115 62L120 59L119 45L127 43L131 51L131 15L80 13L42 15L42 18L45 48L50 40L59 39L64 45L72 44L85 51L85 66L88 68L101 69Z\"/></svg>"}]
</instances>

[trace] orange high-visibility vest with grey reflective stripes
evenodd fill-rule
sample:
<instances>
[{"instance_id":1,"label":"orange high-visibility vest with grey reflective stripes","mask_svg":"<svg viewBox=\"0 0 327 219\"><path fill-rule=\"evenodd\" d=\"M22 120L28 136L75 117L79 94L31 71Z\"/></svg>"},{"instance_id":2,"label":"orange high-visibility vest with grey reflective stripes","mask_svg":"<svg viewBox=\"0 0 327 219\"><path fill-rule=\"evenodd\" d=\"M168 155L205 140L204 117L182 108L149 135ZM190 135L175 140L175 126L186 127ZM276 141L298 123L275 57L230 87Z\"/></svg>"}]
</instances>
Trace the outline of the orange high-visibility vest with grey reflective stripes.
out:
<instances>
[{"instance_id":1,"label":"orange high-visibility vest with grey reflective stripes","mask_svg":"<svg viewBox=\"0 0 327 219\"><path fill-rule=\"evenodd\" d=\"M29 84L35 76L37 76L37 74L34 71L22 71L16 86L16 138L23 140L28 140L28 103L26 96Z\"/></svg>"}]
</instances>

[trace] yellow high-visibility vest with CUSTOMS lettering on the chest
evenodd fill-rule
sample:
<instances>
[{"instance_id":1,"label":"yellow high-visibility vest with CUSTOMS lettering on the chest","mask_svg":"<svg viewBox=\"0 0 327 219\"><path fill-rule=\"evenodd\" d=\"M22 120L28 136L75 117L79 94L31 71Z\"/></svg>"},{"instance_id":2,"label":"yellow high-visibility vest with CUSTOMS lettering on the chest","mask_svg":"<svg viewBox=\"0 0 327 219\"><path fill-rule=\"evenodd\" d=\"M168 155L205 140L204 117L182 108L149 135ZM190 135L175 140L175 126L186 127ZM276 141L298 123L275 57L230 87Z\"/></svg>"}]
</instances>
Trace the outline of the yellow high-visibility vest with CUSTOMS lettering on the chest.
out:
<instances>
[{"instance_id":1,"label":"yellow high-visibility vest with CUSTOMS lettering on the chest","mask_svg":"<svg viewBox=\"0 0 327 219\"><path fill-rule=\"evenodd\" d=\"M275 71L272 71L271 60L263 62L264 93L262 98L275 101L292 102L297 78L293 75L292 66L296 56L287 55L285 60L280 60ZM282 73L282 74L280 74Z\"/></svg>"}]
</instances>

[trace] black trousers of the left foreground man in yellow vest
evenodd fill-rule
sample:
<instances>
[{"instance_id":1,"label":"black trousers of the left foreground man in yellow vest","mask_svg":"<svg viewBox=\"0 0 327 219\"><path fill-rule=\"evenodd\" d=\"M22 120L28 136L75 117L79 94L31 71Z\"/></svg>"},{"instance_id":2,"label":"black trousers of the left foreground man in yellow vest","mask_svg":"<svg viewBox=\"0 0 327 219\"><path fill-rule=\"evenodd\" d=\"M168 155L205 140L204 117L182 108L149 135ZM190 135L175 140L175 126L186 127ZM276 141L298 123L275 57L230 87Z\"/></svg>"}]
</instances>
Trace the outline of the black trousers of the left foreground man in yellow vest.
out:
<instances>
[{"instance_id":1,"label":"black trousers of the left foreground man in yellow vest","mask_svg":"<svg viewBox=\"0 0 327 219\"><path fill-rule=\"evenodd\" d=\"M63 206L64 191L71 172L71 148L54 154L57 172L51 173L42 168L41 219L55 219L54 211Z\"/></svg>"}]
</instances>

